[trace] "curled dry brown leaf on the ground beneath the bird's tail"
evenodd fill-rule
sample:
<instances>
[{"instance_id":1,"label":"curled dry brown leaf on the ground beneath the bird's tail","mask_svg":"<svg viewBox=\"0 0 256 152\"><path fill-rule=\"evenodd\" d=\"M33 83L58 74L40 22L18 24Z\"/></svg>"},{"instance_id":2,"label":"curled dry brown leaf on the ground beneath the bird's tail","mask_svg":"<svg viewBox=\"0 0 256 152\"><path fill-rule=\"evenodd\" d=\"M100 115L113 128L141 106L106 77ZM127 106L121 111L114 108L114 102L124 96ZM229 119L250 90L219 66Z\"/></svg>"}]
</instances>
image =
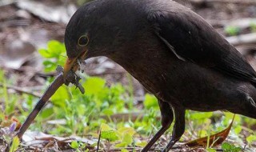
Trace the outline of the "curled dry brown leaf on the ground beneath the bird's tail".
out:
<instances>
[{"instance_id":1,"label":"curled dry brown leaf on the ground beneath the bird's tail","mask_svg":"<svg viewBox=\"0 0 256 152\"><path fill-rule=\"evenodd\" d=\"M234 114L235 116L235 114ZM234 122L234 117L232 121L230 122L230 126L228 126L225 130L222 130L221 132L218 132L217 134L212 134L210 137L203 137L203 138L198 138L194 141L186 142L185 145L189 146L190 148L195 148L195 147L207 147L207 145L210 146L218 146L222 144L222 142L226 139L228 134L230 133L231 126ZM207 144L209 138L209 143Z\"/></svg>"}]
</instances>

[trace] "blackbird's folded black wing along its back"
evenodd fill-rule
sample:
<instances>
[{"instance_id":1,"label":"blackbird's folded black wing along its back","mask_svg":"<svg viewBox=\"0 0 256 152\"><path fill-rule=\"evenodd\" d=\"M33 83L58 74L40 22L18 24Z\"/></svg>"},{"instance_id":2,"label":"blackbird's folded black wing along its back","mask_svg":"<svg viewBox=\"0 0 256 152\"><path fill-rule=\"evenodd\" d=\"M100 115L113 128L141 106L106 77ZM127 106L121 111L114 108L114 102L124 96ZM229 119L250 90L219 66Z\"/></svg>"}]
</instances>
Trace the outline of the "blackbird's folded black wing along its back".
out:
<instances>
[{"instance_id":1,"label":"blackbird's folded black wing along its back","mask_svg":"<svg viewBox=\"0 0 256 152\"><path fill-rule=\"evenodd\" d=\"M179 59L256 82L256 73L242 54L194 12L155 11L148 20Z\"/></svg>"}]
</instances>

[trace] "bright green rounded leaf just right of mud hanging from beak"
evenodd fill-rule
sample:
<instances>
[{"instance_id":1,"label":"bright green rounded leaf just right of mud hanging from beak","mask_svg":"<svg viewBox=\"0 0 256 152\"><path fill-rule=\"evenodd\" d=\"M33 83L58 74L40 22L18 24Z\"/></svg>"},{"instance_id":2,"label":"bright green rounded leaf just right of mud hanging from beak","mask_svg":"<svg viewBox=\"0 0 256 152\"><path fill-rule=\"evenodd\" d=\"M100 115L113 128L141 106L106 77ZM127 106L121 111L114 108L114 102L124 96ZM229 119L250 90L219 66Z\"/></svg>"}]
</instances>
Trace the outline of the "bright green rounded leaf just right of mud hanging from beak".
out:
<instances>
[{"instance_id":1,"label":"bright green rounded leaf just right of mud hanging from beak","mask_svg":"<svg viewBox=\"0 0 256 152\"><path fill-rule=\"evenodd\" d=\"M84 83L86 95L98 94L105 86L106 81L98 77L90 77Z\"/></svg>"}]
</instances>

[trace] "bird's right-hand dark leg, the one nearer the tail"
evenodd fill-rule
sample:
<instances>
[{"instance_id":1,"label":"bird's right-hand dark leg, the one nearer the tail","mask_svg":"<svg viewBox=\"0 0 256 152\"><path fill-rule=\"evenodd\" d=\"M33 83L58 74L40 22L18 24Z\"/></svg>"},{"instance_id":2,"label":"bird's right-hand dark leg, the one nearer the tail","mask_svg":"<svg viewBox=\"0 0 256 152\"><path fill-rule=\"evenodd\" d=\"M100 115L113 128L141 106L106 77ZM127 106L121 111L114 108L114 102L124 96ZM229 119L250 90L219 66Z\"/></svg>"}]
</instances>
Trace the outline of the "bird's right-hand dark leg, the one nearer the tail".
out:
<instances>
[{"instance_id":1,"label":"bird's right-hand dark leg, the one nearer the tail","mask_svg":"<svg viewBox=\"0 0 256 152\"><path fill-rule=\"evenodd\" d=\"M174 146L175 142L182 137L185 131L185 110L181 107L174 108L174 130L170 142L167 144L166 148L162 152L167 152Z\"/></svg>"}]
</instances>

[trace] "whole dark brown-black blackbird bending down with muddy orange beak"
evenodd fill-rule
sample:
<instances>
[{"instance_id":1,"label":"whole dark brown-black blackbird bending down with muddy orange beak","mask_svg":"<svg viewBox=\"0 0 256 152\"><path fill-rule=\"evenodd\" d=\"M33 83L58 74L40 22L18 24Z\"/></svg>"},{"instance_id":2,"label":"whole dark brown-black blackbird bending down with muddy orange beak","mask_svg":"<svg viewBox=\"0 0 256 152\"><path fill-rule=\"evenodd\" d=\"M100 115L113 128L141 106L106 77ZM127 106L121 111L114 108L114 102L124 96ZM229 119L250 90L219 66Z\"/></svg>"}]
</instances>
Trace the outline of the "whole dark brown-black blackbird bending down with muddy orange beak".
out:
<instances>
[{"instance_id":1,"label":"whole dark brown-black blackbird bending down with muddy orange beak","mask_svg":"<svg viewBox=\"0 0 256 152\"><path fill-rule=\"evenodd\" d=\"M242 54L192 10L171 0L94 0L66 26L64 78L78 59L106 56L158 98L169 151L185 130L185 110L227 110L256 118L256 73ZM68 81L65 79L65 81Z\"/></svg>"}]
</instances>

